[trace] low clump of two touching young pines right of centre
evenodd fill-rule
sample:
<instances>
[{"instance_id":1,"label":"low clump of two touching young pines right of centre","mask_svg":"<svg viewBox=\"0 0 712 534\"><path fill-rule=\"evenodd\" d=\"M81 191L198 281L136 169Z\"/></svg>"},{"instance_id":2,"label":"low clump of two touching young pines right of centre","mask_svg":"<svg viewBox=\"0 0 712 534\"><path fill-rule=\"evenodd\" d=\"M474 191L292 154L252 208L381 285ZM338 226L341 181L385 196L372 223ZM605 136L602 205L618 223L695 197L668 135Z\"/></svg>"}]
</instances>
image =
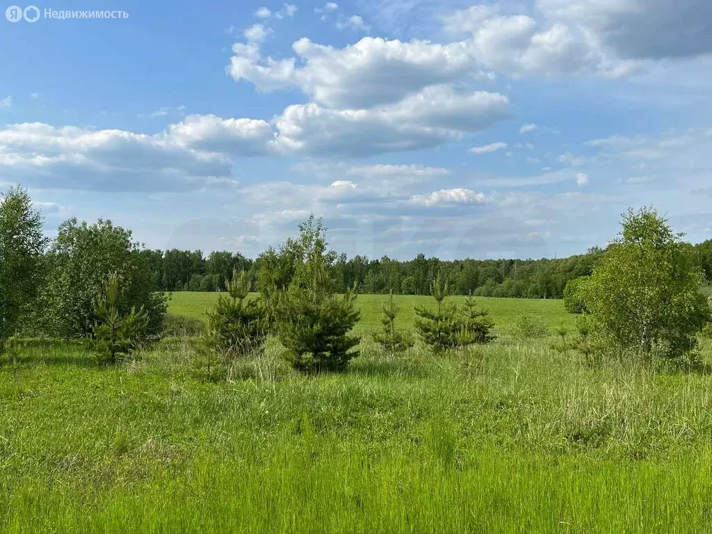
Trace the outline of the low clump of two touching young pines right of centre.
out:
<instances>
[{"instance_id":1,"label":"low clump of two touching young pines right of centre","mask_svg":"<svg viewBox=\"0 0 712 534\"><path fill-rule=\"evenodd\" d=\"M422 341L436 353L466 347L474 343L486 343L494 339L491 329L494 324L486 318L484 310L477 310L471 297L460 310L457 305L445 302L448 284L437 275L431 286L436 309L423 306L415 308L415 325Z\"/></svg>"}]
</instances>

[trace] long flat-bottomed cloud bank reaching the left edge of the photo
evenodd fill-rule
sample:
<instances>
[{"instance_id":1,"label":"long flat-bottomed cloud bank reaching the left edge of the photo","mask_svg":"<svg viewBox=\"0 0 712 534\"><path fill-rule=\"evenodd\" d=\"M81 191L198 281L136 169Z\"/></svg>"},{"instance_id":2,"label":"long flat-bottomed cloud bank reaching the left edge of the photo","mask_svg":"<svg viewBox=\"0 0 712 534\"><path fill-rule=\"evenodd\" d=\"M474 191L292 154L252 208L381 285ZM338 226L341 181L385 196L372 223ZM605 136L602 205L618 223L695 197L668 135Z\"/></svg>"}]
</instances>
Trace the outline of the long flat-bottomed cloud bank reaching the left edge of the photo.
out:
<instances>
[{"instance_id":1,"label":"long flat-bottomed cloud bank reaching the left edge of the photo","mask_svg":"<svg viewBox=\"0 0 712 534\"><path fill-rule=\"evenodd\" d=\"M233 184L229 155L262 155L273 135L263 121L192 116L155 135L53 127L0 130L0 174L33 187L185 191Z\"/></svg>"}]
</instances>

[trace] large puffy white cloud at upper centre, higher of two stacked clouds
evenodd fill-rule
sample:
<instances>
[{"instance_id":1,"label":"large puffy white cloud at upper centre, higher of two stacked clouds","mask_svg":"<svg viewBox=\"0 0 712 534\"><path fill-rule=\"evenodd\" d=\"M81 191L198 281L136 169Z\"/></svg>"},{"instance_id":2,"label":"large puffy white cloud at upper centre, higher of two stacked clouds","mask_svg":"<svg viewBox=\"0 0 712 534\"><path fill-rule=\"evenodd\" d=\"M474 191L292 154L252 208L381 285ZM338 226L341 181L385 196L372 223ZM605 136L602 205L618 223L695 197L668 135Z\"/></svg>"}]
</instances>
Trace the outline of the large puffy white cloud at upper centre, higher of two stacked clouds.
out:
<instances>
[{"instance_id":1,"label":"large puffy white cloud at upper centre, higher of two stacked clouds","mask_svg":"<svg viewBox=\"0 0 712 534\"><path fill-rule=\"evenodd\" d=\"M257 47L236 43L228 72L258 90L296 87L340 109L394 103L429 85L488 76L466 41L441 45L365 37L333 48L301 38L292 48L298 60L262 58Z\"/></svg>"}]
</instances>

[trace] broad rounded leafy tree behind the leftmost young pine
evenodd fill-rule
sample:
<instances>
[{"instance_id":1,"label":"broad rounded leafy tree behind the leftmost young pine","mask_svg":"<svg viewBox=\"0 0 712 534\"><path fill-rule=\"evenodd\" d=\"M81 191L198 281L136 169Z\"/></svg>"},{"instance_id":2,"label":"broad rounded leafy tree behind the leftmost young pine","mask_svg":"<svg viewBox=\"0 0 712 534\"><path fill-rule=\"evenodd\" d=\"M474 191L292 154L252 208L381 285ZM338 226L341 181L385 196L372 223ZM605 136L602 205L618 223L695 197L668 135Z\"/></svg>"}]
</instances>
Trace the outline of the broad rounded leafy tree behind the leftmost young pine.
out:
<instances>
[{"instance_id":1,"label":"broad rounded leafy tree behind the leftmost young pine","mask_svg":"<svg viewBox=\"0 0 712 534\"><path fill-rule=\"evenodd\" d=\"M120 315L143 308L147 333L157 335L166 310L164 295L152 289L148 258L131 231L99 219L95 224L76 219L63 222L48 255L50 274L43 290L44 330L58 337L87 337L97 322L95 300L110 273L121 281Z\"/></svg>"}]
</instances>

